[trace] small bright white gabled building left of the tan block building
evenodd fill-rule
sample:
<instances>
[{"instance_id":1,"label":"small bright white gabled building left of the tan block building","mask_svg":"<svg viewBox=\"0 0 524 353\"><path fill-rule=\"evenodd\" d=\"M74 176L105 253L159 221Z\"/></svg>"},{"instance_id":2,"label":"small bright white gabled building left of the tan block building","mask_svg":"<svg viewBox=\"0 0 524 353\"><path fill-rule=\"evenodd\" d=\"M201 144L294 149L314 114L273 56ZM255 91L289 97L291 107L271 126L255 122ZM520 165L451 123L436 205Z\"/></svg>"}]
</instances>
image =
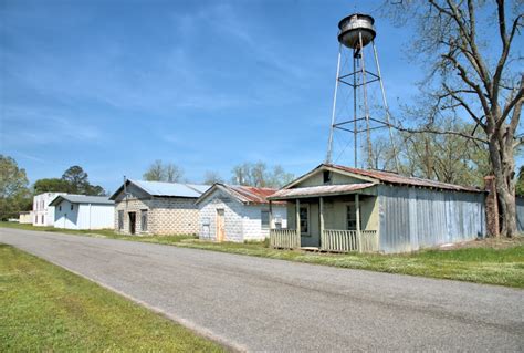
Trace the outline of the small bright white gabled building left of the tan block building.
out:
<instances>
[{"instance_id":1,"label":"small bright white gabled building left of the tan block building","mask_svg":"<svg viewBox=\"0 0 524 353\"><path fill-rule=\"evenodd\" d=\"M107 196L59 195L54 207L54 228L113 229L115 203Z\"/></svg>"}]
</instances>

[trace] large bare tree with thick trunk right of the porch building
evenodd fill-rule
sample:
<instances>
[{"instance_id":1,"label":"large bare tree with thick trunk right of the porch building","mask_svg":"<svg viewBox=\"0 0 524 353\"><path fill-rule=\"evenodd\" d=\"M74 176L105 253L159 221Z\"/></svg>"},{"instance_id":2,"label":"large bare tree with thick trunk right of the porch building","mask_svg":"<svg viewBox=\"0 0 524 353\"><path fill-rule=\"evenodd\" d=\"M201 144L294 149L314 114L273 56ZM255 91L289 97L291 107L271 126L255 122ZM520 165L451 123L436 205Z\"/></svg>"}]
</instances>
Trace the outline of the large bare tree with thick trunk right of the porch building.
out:
<instances>
[{"instance_id":1,"label":"large bare tree with thick trunk right of the porch building","mask_svg":"<svg viewBox=\"0 0 524 353\"><path fill-rule=\"evenodd\" d=\"M509 8L503 0L493 4L399 0L388 7L396 23L416 23L411 52L431 64L422 84L432 104L418 132L452 134L488 146L501 206L501 235L513 237L517 232L514 153L523 143L517 127L524 74L512 44L523 27L522 1ZM442 129L438 120L444 114L470 120L484 136Z\"/></svg>"}]
</instances>

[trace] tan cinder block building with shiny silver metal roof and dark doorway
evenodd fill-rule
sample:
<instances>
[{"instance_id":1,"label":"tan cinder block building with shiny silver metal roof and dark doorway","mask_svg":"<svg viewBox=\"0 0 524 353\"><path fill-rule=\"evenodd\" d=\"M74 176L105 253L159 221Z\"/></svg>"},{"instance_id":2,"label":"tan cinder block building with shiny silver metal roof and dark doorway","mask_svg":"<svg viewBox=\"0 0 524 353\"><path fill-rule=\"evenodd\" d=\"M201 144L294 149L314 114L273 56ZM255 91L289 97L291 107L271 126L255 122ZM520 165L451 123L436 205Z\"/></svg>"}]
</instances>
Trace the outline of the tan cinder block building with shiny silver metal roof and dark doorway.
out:
<instances>
[{"instance_id":1,"label":"tan cinder block building with shiny silver metal roof and dark doorway","mask_svg":"<svg viewBox=\"0 0 524 353\"><path fill-rule=\"evenodd\" d=\"M127 179L115 201L115 230L126 235L196 235L196 200L209 185Z\"/></svg>"}]
</instances>

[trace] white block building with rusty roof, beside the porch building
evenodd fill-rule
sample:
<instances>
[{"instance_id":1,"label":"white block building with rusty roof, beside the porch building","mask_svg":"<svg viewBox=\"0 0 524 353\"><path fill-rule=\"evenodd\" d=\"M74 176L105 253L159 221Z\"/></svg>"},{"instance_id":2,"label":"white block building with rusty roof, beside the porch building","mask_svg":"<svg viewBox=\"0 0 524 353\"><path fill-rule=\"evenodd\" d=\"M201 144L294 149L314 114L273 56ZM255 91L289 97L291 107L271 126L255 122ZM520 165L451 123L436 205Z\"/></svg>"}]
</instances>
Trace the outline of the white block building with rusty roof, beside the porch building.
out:
<instances>
[{"instance_id":1,"label":"white block building with rusty roof, beside the porch building","mask_svg":"<svg viewBox=\"0 0 524 353\"><path fill-rule=\"evenodd\" d=\"M286 228L285 203L273 203L273 219L265 199L276 189L214 184L197 200L199 237L214 241L264 240L270 228ZM272 227L270 227L272 222Z\"/></svg>"}]
</instances>

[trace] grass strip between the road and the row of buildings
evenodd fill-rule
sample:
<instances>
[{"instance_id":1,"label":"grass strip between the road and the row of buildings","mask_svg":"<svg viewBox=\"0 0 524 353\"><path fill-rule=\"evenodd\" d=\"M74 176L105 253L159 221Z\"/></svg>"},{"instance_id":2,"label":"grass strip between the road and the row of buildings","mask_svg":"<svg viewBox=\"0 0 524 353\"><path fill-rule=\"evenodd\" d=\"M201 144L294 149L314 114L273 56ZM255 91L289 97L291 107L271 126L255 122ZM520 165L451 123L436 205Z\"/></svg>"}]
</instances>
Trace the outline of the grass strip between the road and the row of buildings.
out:
<instances>
[{"instance_id":1,"label":"grass strip between the road and the row of buildings","mask_svg":"<svg viewBox=\"0 0 524 353\"><path fill-rule=\"evenodd\" d=\"M0 227L6 224L0 222ZM11 227L32 229L25 225ZM41 228L36 228L42 230ZM51 231L64 231L51 228ZM65 230L69 232L69 230ZM82 232L82 231L80 231ZM83 232L85 235L85 232ZM524 242L516 241L509 247L497 249L493 243L488 247L459 248L451 250L422 250L405 255L369 253L317 253L306 251L274 250L262 242L209 242L196 240L192 236L150 236L129 237L103 231L97 235L115 239L174 245L177 247L230 252L245 256L264 257L304 263L333 266L348 269L371 270L388 273L422 276L486 284L524 288Z\"/></svg>"}]
</instances>

